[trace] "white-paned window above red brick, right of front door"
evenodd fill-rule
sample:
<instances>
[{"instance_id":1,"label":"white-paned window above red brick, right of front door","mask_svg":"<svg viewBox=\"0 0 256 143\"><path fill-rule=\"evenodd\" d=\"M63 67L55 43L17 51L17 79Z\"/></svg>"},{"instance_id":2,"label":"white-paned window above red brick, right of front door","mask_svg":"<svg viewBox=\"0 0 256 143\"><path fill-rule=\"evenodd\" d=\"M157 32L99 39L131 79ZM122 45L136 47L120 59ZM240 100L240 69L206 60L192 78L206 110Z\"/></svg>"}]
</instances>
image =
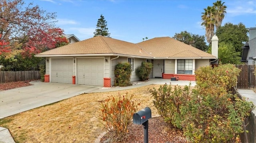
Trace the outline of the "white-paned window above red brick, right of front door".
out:
<instances>
[{"instance_id":1,"label":"white-paned window above red brick, right of front door","mask_svg":"<svg viewBox=\"0 0 256 143\"><path fill-rule=\"evenodd\" d=\"M178 74L192 74L193 60L178 60L177 73Z\"/></svg>"}]
</instances>

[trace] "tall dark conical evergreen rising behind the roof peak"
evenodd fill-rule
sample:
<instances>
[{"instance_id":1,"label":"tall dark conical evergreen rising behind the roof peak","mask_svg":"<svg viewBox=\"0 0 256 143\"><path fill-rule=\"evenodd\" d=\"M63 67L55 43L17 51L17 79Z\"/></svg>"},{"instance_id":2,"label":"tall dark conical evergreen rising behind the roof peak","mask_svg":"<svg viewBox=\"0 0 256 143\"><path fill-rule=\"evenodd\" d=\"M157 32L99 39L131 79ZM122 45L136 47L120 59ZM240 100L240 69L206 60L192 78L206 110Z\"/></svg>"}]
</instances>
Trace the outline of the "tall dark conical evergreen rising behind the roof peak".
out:
<instances>
[{"instance_id":1,"label":"tall dark conical evergreen rising behind the roof peak","mask_svg":"<svg viewBox=\"0 0 256 143\"><path fill-rule=\"evenodd\" d=\"M108 33L107 22L104 19L104 16L102 16L102 14L100 15L100 18L98 19L96 26L97 26L97 28L95 29L94 37L95 36L110 37L110 33Z\"/></svg>"}]
</instances>

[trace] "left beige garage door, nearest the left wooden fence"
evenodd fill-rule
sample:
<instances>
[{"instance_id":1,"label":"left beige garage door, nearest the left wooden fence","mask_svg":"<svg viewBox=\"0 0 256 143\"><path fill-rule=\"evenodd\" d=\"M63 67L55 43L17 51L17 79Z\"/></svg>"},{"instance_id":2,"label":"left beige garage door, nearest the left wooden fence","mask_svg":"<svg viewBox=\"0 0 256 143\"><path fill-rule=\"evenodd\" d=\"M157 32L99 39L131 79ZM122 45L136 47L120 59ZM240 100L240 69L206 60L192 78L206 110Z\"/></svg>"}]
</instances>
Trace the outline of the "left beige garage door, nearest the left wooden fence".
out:
<instances>
[{"instance_id":1,"label":"left beige garage door, nearest the left wooden fence","mask_svg":"<svg viewBox=\"0 0 256 143\"><path fill-rule=\"evenodd\" d=\"M73 58L51 60L51 82L71 83L73 75Z\"/></svg>"}]
</instances>

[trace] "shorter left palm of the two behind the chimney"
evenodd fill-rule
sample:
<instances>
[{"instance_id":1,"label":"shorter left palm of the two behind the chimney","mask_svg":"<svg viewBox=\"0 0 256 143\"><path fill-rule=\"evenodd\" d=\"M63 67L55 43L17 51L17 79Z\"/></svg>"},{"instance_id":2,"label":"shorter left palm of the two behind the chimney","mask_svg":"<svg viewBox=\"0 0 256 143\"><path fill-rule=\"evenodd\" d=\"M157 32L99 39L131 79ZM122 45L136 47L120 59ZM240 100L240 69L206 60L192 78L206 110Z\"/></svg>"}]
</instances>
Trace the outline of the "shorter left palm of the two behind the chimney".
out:
<instances>
[{"instance_id":1,"label":"shorter left palm of the two behind the chimney","mask_svg":"<svg viewBox=\"0 0 256 143\"><path fill-rule=\"evenodd\" d=\"M208 43L211 43L212 36L214 35L214 13L215 9L212 6L208 6L207 8L204 8L204 12L202 12L202 26L205 27L206 30L206 40Z\"/></svg>"}]
</instances>

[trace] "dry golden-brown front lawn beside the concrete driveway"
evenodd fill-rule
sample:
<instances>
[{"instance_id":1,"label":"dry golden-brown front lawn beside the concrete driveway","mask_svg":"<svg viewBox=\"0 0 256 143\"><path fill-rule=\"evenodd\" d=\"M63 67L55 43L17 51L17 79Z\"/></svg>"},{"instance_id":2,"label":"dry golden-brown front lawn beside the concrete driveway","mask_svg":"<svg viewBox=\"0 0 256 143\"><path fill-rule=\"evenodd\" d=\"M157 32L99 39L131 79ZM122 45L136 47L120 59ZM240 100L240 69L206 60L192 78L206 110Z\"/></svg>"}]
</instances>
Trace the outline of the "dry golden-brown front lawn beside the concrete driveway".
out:
<instances>
[{"instance_id":1,"label":"dry golden-brown front lawn beside the concrete driveway","mask_svg":"<svg viewBox=\"0 0 256 143\"><path fill-rule=\"evenodd\" d=\"M60 102L22 112L0 119L0 125L10 130L16 142L93 143L104 132L98 117L98 108L107 96L133 94L140 100L139 109L149 107L152 116L157 115L153 107L148 88L160 85L148 85L129 90L81 94Z\"/></svg>"}]
</instances>

